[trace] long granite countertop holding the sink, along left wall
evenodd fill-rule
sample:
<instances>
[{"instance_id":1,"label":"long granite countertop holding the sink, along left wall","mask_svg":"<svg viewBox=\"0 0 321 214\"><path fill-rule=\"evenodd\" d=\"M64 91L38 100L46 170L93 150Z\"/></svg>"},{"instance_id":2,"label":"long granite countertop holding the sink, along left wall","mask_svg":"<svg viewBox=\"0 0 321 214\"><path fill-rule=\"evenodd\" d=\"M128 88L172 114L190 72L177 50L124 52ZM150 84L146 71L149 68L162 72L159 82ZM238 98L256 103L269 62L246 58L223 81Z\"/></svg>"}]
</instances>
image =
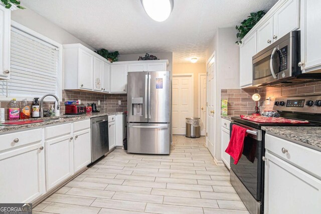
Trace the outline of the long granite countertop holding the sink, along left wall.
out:
<instances>
[{"instance_id":1,"label":"long granite countertop holding the sink, along left wall","mask_svg":"<svg viewBox=\"0 0 321 214\"><path fill-rule=\"evenodd\" d=\"M85 120L90 119L93 117L100 117L100 116L108 116L108 115L115 115L122 112L116 112L116 113L108 113L108 112L95 112L95 113L86 113L86 114L80 114L77 116L74 115L62 115L59 117L44 117L44 118L33 118L30 120L44 120L44 122L41 123L30 123L26 125L15 125L15 126L2 126L0 125L0 134L4 134L4 132L14 132L14 131L20 131L22 129L30 129L30 128L36 128L41 126L47 126L47 125L53 125L53 124L59 124L59 123L66 123L66 122L74 122L78 120ZM50 118L61 118L58 120L48 120ZM19 120L21 121L21 120ZM10 122L10 121L6 121Z\"/></svg>"}]
</instances>

